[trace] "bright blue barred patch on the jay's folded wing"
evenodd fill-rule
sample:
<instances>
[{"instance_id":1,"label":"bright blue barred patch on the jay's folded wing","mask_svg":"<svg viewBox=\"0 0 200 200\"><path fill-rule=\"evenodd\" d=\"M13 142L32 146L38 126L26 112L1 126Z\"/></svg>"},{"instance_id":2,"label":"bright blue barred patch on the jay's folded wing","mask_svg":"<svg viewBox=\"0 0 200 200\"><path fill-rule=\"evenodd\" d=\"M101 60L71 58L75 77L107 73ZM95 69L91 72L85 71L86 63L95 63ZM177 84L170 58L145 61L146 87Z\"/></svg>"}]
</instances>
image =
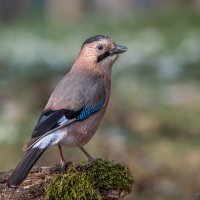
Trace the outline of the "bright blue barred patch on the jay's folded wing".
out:
<instances>
[{"instance_id":1,"label":"bright blue barred patch on the jay's folded wing","mask_svg":"<svg viewBox=\"0 0 200 200\"><path fill-rule=\"evenodd\" d=\"M81 111L80 115L76 117L77 121L82 121L88 118L93 113L97 112L105 103L105 99L100 100L95 106L86 105Z\"/></svg>"}]
</instances>

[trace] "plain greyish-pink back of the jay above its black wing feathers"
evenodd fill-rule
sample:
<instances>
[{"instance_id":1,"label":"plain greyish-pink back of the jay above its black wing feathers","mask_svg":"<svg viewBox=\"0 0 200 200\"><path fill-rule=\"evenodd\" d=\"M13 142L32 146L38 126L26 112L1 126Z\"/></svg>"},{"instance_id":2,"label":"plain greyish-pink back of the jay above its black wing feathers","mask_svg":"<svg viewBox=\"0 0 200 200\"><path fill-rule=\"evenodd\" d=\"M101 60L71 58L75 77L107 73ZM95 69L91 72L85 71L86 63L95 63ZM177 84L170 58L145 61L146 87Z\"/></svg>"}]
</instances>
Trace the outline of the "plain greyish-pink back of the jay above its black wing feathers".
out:
<instances>
[{"instance_id":1,"label":"plain greyish-pink back of the jay above its black wing feathers","mask_svg":"<svg viewBox=\"0 0 200 200\"><path fill-rule=\"evenodd\" d=\"M109 80L95 73L71 70L57 85L45 110L79 110L87 103L95 105L110 96Z\"/></svg>"}]
</instances>

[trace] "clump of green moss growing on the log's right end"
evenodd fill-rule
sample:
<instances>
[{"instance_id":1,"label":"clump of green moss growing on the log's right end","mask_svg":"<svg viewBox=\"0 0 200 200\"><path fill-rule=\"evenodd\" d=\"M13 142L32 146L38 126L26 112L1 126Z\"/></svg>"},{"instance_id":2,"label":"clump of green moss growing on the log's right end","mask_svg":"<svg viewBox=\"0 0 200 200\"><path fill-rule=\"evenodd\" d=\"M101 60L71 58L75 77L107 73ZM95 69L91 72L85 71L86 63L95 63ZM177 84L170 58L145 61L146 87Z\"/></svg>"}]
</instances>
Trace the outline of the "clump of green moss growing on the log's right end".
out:
<instances>
[{"instance_id":1,"label":"clump of green moss growing on the log's right end","mask_svg":"<svg viewBox=\"0 0 200 200\"><path fill-rule=\"evenodd\" d=\"M45 200L100 200L101 193L117 190L131 192L134 179L128 167L105 160L71 167L66 174L56 175L47 188Z\"/></svg>"}]
</instances>

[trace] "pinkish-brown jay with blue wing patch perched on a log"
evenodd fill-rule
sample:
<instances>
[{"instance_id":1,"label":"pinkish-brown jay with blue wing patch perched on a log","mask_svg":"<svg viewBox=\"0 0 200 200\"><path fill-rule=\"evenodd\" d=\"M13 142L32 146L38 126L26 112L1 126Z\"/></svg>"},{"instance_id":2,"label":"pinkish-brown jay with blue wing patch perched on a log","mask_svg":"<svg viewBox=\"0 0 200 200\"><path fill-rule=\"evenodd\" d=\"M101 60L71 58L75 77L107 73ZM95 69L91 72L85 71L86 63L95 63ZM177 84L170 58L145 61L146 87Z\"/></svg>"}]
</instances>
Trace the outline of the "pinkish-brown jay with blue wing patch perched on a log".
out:
<instances>
[{"instance_id":1,"label":"pinkish-brown jay with blue wing patch perched on a log","mask_svg":"<svg viewBox=\"0 0 200 200\"><path fill-rule=\"evenodd\" d=\"M58 83L25 144L25 153L8 180L17 188L33 165L50 147L78 147L88 161L94 158L84 145L95 134L104 116L111 93L112 66L127 48L110 37L95 35L85 40L70 71Z\"/></svg>"}]
</instances>

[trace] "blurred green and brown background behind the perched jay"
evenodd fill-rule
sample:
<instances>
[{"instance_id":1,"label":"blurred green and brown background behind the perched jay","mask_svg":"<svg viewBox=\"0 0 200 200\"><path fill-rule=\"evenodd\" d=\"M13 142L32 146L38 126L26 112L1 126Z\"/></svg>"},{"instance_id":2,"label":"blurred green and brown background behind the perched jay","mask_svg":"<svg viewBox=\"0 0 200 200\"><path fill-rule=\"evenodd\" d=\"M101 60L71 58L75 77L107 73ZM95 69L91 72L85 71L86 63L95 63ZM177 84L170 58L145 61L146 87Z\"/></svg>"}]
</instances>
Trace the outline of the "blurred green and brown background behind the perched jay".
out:
<instances>
[{"instance_id":1,"label":"blurred green and brown background behind the perched jay","mask_svg":"<svg viewBox=\"0 0 200 200\"><path fill-rule=\"evenodd\" d=\"M96 34L128 51L86 149L131 168L127 200L200 199L200 0L0 0L0 170L16 166L51 91ZM38 164L58 162L53 147Z\"/></svg>"}]
</instances>

